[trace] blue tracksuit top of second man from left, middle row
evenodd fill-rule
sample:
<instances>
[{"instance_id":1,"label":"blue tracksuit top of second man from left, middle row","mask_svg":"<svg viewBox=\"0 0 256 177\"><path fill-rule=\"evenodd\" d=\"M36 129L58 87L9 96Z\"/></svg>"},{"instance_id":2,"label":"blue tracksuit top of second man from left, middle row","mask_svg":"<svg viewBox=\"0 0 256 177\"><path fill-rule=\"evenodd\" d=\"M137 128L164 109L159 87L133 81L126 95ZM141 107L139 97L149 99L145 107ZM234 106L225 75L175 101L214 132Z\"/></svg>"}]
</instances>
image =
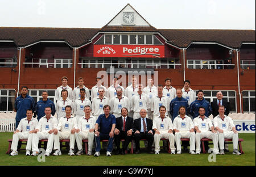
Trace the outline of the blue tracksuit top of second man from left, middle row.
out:
<instances>
[{"instance_id":1,"label":"blue tracksuit top of second man from left, middle row","mask_svg":"<svg viewBox=\"0 0 256 177\"><path fill-rule=\"evenodd\" d=\"M46 101L40 100L38 101L38 103L36 103L36 115L38 115L38 120L41 119L41 117L45 116L46 113L44 113L44 109L46 107L51 107L52 109L52 116L55 115L56 109L55 109L55 104L52 102L52 100L50 100L49 98L47 98Z\"/></svg>"}]
</instances>

